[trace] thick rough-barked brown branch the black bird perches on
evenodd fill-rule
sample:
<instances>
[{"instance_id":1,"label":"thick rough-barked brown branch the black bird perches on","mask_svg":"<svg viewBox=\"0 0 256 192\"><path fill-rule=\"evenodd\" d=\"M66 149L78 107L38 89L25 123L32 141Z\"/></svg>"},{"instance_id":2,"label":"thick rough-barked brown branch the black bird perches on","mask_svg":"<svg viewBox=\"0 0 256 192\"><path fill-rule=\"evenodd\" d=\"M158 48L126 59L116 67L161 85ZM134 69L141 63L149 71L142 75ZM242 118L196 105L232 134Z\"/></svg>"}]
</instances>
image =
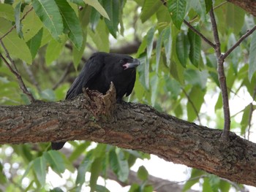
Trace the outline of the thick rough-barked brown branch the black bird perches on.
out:
<instances>
[{"instance_id":1,"label":"thick rough-barked brown branch the black bird perches on","mask_svg":"<svg viewBox=\"0 0 256 192\"><path fill-rule=\"evenodd\" d=\"M256 145L197 126L145 104L115 103L86 91L72 101L0 107L0 144L91 140L158 155L237 183L256 186Z\"/></svg>"}]
</instances>

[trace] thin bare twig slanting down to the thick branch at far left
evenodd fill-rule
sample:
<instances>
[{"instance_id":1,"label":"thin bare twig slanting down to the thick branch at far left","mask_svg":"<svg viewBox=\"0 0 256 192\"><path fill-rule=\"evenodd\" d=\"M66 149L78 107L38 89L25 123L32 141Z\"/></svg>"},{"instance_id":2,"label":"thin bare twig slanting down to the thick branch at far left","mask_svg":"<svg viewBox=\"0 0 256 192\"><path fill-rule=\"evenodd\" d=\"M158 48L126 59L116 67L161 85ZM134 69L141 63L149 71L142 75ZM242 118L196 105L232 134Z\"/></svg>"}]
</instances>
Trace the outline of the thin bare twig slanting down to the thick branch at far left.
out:
<instances>
[{"instance_id":1,"label":"thin bare twig slanting down to the thick branch at far left","mask_svg":"<svg viewBox=\"0 0 256 192\"><path fill-rule=\"evenodd\" d=\"M12 58L10 58L9 52L7 50L7 48L4 46L4 43L1 41L0 39L0 43L1 46L4 48L4 51L6 53L6 57L10 60L12 66L8 63L8 61L4 58L4 55L2 55L0 53L0 57L3 59L4 63L8 66L8 68L10 69L10 71L15 75L15 77L18 80L18 84L20 85L20 89L23 91L23 93L25 93L28 97L29 100L31 101L31 103L33 103L35 101L34 97L32 96L32 94L28 91L28 89L26 88L26 85L24 84L22 77L20 76L17 67L15 66L14 61L12 61ZM13 69L13 68L14 69Z\"/></svg>"}]
</instances>

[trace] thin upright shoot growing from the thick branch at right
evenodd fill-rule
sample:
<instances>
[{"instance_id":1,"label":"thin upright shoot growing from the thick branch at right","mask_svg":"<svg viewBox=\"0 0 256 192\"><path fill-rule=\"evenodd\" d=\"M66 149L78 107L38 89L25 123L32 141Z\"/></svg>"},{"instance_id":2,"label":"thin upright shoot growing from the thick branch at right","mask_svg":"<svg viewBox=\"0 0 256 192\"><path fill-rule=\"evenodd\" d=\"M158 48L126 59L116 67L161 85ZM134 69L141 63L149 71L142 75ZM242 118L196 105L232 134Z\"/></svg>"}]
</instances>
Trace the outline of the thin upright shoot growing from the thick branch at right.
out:
<instances>
[{"instance_id":1,"label":"thin upright shoot growing from the thick branch at right","mask_svg":"<svg viewBox=\"0 0 256 192\"><path fill-rule=\"evenodd\" d=\"M223 111L224 111L224 129L222 133L222 139L225 141L228 140L229 132L230 132L230 107L228 103L228 94L227 94L227 82L224 72L224 59L222 58L222 53L220 50L220 42L219 42L219 34L217 23L214 17L214 9L211 8L210 10L210 17L211 17L211 25L214 32L214 41L216 43L216 47L214 48L217 61L218 61L218 76L219 76L219 84L222 91L222 103L223 103Z\"/></svg>"}]
</instances>

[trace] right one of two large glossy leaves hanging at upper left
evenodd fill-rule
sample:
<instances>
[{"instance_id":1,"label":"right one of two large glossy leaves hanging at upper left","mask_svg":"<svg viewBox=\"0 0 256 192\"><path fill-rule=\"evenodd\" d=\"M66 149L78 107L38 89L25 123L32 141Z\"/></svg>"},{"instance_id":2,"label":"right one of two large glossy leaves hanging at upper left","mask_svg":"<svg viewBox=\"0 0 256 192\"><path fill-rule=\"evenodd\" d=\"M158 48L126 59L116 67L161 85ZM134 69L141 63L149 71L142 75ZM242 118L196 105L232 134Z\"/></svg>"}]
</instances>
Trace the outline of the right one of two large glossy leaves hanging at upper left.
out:
<instances>
[{"instance_id":1,"label":"right one of two large glossy leaves hanging at upper left","mask_svg":"<svg viewBox=\"0 0 256 192\"><path fill-rule=\"evenodd\" d=\"M80 50L83 45L83 32L74 9L72 9L67 1L55 1L59 7L59 12L62 16L64 33L67 34L70 41L75 45L75 47Z\"/></svg>"}]
</instances>

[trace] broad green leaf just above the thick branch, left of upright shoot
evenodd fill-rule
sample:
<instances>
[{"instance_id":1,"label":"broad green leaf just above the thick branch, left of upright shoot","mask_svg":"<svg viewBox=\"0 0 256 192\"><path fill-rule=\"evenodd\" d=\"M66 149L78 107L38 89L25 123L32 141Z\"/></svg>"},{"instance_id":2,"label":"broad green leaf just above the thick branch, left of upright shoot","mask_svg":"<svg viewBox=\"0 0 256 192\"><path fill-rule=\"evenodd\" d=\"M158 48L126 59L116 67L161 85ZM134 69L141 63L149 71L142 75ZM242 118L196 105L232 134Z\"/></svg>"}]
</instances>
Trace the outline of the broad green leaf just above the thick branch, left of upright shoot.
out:
<instances>
[{"instance_id":1,"label":"broad green leaf just above the thick branch, left of upright shoot","mask_svg":"<svg viewBox=\"0 0 256 192\"><path fill-rule=\"evenodd\" d=\"M194 121L197 118L197 115L199 115L205 94L206 91L202 91L197 87L193 87L189 92L189 101L187 101L187 119L190 122Z\"/></svg>"}]
</instances>

